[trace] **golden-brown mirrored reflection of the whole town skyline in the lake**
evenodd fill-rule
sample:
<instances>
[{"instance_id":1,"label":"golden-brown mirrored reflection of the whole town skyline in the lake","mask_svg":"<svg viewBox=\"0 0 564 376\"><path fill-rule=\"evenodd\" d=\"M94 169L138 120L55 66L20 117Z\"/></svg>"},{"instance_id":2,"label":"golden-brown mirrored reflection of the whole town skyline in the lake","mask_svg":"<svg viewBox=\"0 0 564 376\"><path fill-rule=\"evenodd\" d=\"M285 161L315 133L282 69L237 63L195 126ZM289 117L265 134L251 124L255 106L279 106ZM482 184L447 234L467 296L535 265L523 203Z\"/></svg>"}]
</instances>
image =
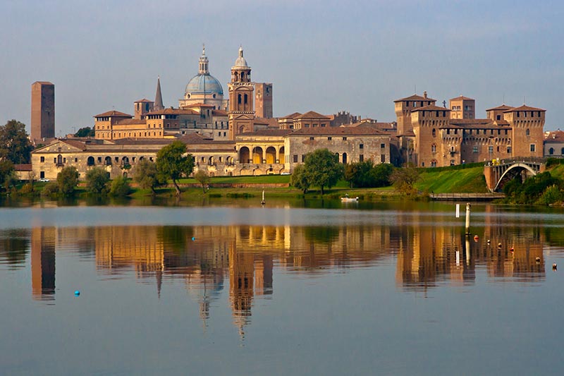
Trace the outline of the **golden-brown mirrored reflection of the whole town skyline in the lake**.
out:
<instances>
[{"instance_id":1,"label":"golden-brown mirrored reflection of the whole town skyline in the lake","mask_svg":"<svg viewBox=\"0 0 564 376\"><path fill-rule=\"evenodd\" d=\"M309 277L396 261L396 284L408 291L474 284L479 269L499 281L545 278L545 235L539 226L508 226L486 216L474 241L450 222L424 224L414 216L402 226L35 228L32 296L54 298L55 253L60 250L94 258L103 274L134 270L136 277L154 283L159 296L164 279L182 279L200 304L204 324L228 279L233 322L240 330L250 322L254 300L273 294L275 267ZM2 248L5 253L10 245L4 241Z\"/></svg>"}]
</instances>

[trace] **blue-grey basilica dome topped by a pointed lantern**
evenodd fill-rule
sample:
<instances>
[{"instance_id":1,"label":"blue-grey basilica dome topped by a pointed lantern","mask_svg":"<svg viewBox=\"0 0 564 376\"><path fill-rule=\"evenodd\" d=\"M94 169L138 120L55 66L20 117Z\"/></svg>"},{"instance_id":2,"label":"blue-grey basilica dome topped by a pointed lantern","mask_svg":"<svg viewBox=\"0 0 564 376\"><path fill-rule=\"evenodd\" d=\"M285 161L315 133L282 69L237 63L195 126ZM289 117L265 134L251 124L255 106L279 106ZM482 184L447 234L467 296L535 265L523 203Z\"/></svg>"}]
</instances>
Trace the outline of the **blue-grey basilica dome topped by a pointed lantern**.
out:
<instances>
[{"instance_id":1,"label":"blue-grey basilica dome topped by a pointed lantern","mask_svg":"<svg viewBox=\"0 0 564 376\"><path fill-rule=\"evenodd\" d=\"M223 87L213 75L209 74L209 61L206 56L206 47L202 49L200 56L200 69L198 74L190 78L184 98L178 101L178 106L191 107L194 104L208 104L214 109L228 111L228 100L223 99Z\"/></svg>"}]
</instances>

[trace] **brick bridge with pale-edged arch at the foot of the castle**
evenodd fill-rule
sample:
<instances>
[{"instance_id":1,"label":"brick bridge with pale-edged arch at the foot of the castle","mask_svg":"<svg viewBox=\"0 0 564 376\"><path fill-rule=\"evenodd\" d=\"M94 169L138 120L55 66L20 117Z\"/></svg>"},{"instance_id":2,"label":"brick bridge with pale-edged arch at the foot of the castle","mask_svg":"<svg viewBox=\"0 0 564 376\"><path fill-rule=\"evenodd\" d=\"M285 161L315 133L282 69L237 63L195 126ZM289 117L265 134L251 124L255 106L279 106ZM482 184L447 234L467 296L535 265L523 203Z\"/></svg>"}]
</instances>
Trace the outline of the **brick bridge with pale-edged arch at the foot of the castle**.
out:
<instances>
[{"instance_id":1,"label":"brick bridge with pale-edged arch at the foot of the castle","mask_svg":"<svg viewBox=\"0 0 564 376\"><path fill-rule=\"evenodd\" d=\"M520 175L525 181L525 178L540 174L545 169L546 164L542 158L503 159L486 164L484 176L486 176L486 186L490 192L497 192L516 176Z\"/></svg>"}]
</instances>

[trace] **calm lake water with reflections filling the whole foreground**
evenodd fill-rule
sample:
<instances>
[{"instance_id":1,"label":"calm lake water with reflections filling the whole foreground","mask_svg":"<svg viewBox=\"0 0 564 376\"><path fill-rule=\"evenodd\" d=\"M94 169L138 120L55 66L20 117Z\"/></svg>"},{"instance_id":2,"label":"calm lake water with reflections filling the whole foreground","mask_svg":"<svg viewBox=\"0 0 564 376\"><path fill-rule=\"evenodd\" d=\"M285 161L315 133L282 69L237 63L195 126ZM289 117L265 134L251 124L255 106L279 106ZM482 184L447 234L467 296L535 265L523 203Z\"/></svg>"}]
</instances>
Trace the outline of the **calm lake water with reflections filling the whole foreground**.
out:
<instances>
[{"instance_id":1,"label":"calm lake water with reflections filling the whole foreground","mask_svg":"<svg viewBox=\"0 0 564 376\"><path fill-rule=\"evenodd\" d=\"M564 210L256 201L0 209L1 373L561 374Z\"/></svg>"}]
</instances>

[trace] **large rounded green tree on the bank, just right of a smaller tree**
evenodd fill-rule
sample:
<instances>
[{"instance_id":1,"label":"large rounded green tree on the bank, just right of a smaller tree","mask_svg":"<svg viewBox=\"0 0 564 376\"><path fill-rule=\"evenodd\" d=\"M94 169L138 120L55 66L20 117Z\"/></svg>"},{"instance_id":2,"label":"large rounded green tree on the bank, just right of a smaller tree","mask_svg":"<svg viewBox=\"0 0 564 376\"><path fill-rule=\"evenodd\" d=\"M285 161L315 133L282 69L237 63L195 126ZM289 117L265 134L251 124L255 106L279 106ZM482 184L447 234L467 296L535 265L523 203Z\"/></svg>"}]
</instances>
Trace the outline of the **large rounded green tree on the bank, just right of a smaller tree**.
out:
<instances>
[{"instance_id":1,"label":"large rounded green tree on the bank, just right of a smaller tree","mask_svg":"<svg viewBox=\"0 0 564 376\"><path fill-rule=\"evenodd\" d=\"M343 177L343 164L339 163L338 156L328 149L318 149L305 155L305 171L309 183L312 186L321 188L321 195L324 188L335 186L337 181Z\"/></svg>"}]
</instances>

